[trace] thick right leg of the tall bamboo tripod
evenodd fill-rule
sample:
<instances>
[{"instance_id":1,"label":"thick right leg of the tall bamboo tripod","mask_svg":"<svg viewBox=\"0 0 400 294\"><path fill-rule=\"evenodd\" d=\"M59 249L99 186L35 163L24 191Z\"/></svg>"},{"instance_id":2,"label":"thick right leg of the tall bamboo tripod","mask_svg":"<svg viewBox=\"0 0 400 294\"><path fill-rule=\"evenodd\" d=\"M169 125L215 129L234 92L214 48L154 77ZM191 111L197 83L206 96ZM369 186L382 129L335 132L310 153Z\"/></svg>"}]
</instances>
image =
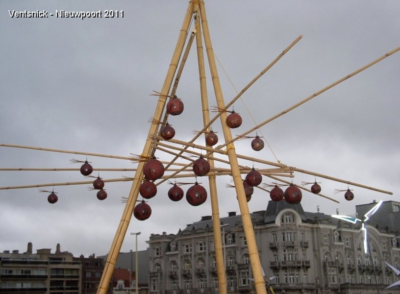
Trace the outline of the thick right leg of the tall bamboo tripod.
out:
<instances>
[{"instance_id":1,"label":"thick right leg of the tall bamboo tripod","mask_svg":"<svg viewBox=\"0 0 400 294\"><path fill-rule=\"evenodd\" d=\"M204 44L205 44L205 48L206 48L206 52L207 52L208 64L210 66L215 97L217 100L217 106L219 108L224 108L225 107L224 97L222 94L222 89L221 89L219 76L218 76L218 72L217 72L217 67L215 64L214 52L212 49L210 32L208 30L207 17L205 14L204 1L200 0L199 3L200 3L201 27L203 29ZM230 141L232 138L232 134L230 132L229 127L225 123L225 120L226 120L225 112L223 112L221 114L220 119L221 119L221 124L222 124L223 132L224 132L225 142ZM233 144L229 144L227 146L227 154L228 154L229 162L230 162L230 165L232 168L233 182L235 184L236 194L237 194L237 198L238 198L238 202L239 202L239 208L240 208L240 212L241 212L241 216L242 216L243 228L245 231L245 236L246 236L247 245L248 245L248 249L249 249L250 263L251 263L251 269L252 269L253 277L254 277L255 290L256 290L257 294L266 294L267 292L266 292L266 288L265 288L264 277L262 275L261 262L260 262L260 258L258 255L257 245L255 242L254 229L253 229L251 218L250 218L250 211L249 211L249 207L247 205L246 195L245 195L245 191L243 188L243 181L242 181L242 177L240 175L238 161L237 161L236 152L235 152L235 147Z\"/></svg>"}]
</instances>

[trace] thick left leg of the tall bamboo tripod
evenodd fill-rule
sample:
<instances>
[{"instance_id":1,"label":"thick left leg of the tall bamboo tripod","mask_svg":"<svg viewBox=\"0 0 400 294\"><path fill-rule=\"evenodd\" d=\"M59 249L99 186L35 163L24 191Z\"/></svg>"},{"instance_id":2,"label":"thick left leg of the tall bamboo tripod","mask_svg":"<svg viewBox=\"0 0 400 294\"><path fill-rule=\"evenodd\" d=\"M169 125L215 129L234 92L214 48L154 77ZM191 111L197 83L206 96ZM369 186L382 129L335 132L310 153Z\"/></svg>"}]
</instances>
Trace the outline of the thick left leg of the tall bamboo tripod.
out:
<instances>
[{"instance_id":1,"label":"thick left leg of the tall bamboo tripod","mask_svg":"<svg viewBox=\"0 0 400 294\"><path fill-rule=\"evenodd\" d=\"M162 86L161 95L158 98L157 106L154 111L153 118L158 121L161 120L162 112L164 110L165 102L166 102L165 95L168 94L169 89L171 88L172 81L174 79L174 75L176 72L177 64L179 62L179 58L183 51L183 47L184 47L186 36L187 36L188 30L189 30L192 14L193 14L193 4L192 4L192 1L189 1L189 5L186 10L186 14L185 14L185 18L183 20L183 24L181 26L181 30L179 32L179 37L176 42L176 46L175 46L175 50L174 50L174 53L173 53L173 56L171 59L171 63L168 68L168 72L166 74L164 84ZM150 154L152 153L153 150L152 150L152 146L151 146L151 139L149 138L149 136L150 136L150 134L154 134L156 132L157 127L158 127L157 124L150 125L149 135L146 140L145 146L143 148L142 154L146 154L146 155L150 156ZM99 284L97 294L106 294L107 293L107 289L108 289L110 281L111 281L112 273L115 268L118 254L120 252L122 243L124 241L126 230L129 225L129 221L133 214L133 208L135 206L137 196L139 193L139 186L143 179L143 166L144 166L144 162L139 162L137 171L135 173L135 177L134 177L134 180L132 183L132 188L129 192L129 196L126 201L126 206L125 206L123 216L121 218L120 225L117 229L117 232L115 234L114 240L111 245L110 252L107 256L107 260L106 260L104 270L103 270L103 273L102 273L102 276L100 279L100 284Z\"/></svg>"}]
</instances>

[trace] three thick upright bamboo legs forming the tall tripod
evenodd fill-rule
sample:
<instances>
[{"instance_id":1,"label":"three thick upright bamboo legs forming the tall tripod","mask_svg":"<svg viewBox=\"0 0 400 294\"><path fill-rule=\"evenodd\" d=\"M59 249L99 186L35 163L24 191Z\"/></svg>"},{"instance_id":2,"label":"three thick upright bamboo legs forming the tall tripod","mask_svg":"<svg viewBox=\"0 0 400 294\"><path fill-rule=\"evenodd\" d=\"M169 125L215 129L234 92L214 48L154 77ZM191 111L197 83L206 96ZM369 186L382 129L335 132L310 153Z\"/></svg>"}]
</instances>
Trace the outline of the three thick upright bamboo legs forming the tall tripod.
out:
<instances>
[{"instance_id":1,"label":"three thick upright bamboo legs forming the tall tripod","mask_svg":"<svg viewBox=\"0 0 400 294\"><path fill-rule=\"evenodd\" d=\"M164 84L162 86L161 95L159 96L157 106L154 112L153 118L162 121L163 111L166 105L167 95L170 93L170 89L174 80L176 80L175 74L178 69L179 58L183 52L184 44L186 37L188 35L189 26L192 18L195 18L196 22L196 30L192 32L192 35L196 35L196 43L197 43L197 52L198 52L198 61L199 61L199 74L200 74L200 92L201 92L201 102L203 109L203 122L206 126L210 122L209 111L208 111L208 98L206 94L206 83L205 83L205 68L204 68L204 55L203 55L203 45L202 38L204 37L204 45L205 51L207 55L208 65L210 68L213 88L215 92L215 97L217 100L217 105L221 109L225 109L225 102L223 93L221 90L221 85L219 81L219 76L216 68L213 48L211 44L210 32L208 29L207 17L204 8L203 0L193 0L189 1L189 6L186 11L186 15L180 30L180 34L175 46L175 51L171 60L171 64L169 66ZM232 140L232 134L229 127L226 125L226 113L223 112L220 115L220 120L224 132L225 142L229 142ZM154 147L151 141L151 135L157 132L158 125L151 124L149 130L149 136L146 140L145 146L143 148L142 155L147 155L150 157L153 154ZM209 128L209 126L208 126ZM266 294L266 288L264 283L264 277L262 274L261 263L258 255L257 245L255 243L254 230L252 227L249 207L247 205L246 195L243 188L243 181L241 178L241 173L239 171L238 160L236 156L236 151L234 147L234 143L229 143L226 146L226 153L229 158L230 167L232 170L233 182L236 189L237 199L239 202L240 213L242 216L243 227L245 231L245 236L248 244L249 255L250 255L250 264L254 277L255 289L257 294ZM209 159L210 165L213 166L213 160ZM113 270L115 268L115 264L118 258L118 254L120 252L121 246L124 241L124 237L129 225L129 221L132 217L133 208L135 206L137 196L139 193L139 186L143 180L143 166L144 162L139 162L132 188L130 190L128 200L126 202L125 210L121 219L121 222L118 226L117 232L115 234L113 243L111 245L111 249L109 251L107 261L105 263L105 267L103 270L103 274L101 276L100 285L98 289L98 294L107 293L107 289L110 284L110 280L112 277ZM213 226L214 226L214 239L215 239L215 255L217 262L217 271L218 271L218 285L219 285L219 293L226 294L226 278L225 278L225 269L224 269L224 261L223 261L223 252L222 252L222 241L221 241L221 228L220 228L220 218L219 218L219 208L218 208L218 198L217 198L217 185L215 181L215 174L210 172L208 175L209 178L209 188L210 188L210 198L211 198L211 207L212 207L212 216L213 216Z\"/></svg>"}]
</instances>

